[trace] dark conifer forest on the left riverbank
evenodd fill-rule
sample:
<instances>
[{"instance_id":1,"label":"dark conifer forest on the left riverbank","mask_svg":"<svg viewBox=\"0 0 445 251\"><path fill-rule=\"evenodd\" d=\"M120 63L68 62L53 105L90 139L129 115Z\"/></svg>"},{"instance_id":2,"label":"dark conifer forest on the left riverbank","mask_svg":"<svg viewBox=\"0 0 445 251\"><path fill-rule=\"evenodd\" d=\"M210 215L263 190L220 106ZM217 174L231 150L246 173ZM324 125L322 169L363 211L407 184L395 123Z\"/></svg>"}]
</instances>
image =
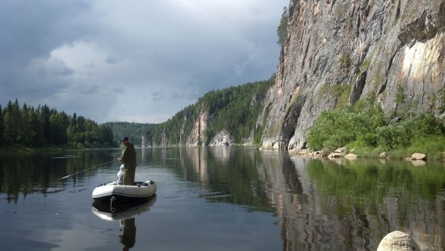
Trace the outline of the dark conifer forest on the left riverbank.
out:
<instances>
[{"instance_id":1,"label":"dark conifer forest on the left riverbank","mask_svg":"<svg viewBox=\"0 0 445 251\"><path fill-rule=\"evenodd\" d=\"M105 124L82 116L67 115L46 104L19 105L9 101L0 106L0 145L8 147L44 147L67 145L79 148L118 146L113 132Z\"/></svg>"}]
</instances>

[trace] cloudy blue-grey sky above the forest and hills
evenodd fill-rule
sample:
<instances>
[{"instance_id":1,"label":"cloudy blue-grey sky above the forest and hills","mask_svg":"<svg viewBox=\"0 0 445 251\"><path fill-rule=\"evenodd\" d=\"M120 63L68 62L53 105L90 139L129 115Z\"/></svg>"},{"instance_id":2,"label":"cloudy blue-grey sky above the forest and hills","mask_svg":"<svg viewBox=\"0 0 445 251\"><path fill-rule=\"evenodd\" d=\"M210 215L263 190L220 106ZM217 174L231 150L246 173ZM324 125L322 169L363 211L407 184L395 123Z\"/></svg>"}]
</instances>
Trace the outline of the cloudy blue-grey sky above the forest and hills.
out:
<instances>
[{"instance_id":1,"label":"cloudy blue-grey sky above the forest and hills","mask_svg":"<svg viewBox=\"0 0 445 251\"><path fill-rule=\"evenodd\" d=\"M0 0L0 105L165 122L211 90L270 79L289 0Z\"/></svg>"}]
</instances>

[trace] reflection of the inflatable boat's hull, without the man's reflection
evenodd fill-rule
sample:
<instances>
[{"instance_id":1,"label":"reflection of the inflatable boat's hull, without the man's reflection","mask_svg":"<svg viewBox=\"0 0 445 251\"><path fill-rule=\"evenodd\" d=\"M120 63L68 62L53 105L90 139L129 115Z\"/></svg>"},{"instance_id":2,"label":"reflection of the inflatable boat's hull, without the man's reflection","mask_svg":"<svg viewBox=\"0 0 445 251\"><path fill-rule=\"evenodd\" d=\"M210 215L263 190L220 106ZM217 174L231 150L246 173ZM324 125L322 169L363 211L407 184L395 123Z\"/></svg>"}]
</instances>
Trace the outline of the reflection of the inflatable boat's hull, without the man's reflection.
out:
<instances>
[{"instance_id":1,"label":"reflection of the inflatable boat's hull, without the man's reflection","mask_svg":"<svg viewBox=\"0 0 445 251\"><path fill-rule=\"evenodd\" d=\"M93 202L91 211L102 220L122 220L133 218L140 213L149 211L154 202L156 202L156 195L147 202L133 202L130 204L108 204Z\"/></svg>"}]
</instances>

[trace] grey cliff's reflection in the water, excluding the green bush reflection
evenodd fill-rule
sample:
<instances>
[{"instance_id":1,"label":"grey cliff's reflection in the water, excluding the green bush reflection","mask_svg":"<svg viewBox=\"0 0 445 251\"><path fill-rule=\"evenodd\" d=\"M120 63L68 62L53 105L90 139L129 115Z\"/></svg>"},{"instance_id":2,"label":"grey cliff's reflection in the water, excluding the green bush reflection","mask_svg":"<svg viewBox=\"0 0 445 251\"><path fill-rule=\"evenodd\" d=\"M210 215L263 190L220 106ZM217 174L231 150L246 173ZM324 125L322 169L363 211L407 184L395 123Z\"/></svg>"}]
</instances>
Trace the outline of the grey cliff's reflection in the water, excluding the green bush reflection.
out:
<instances>
[{"instance_id":1,"label":"grey cliff's reflection in the water, excluding the green bush reflection","mask_svg":"<svg viewBox=\"0 0 445 251\"><path fill-rule=\"evenodd\" d=\"M353 171L352 175L336 172L339 180L333 175L329 181L322 178L327 176L325 169L341 170L342 166L322 162L300 156L283 156L279 161L264 158L272 186L270 200L281 218L284 250L376 250L381 238L396 229L410 233L421 248L444 247L443 192L442 197L428 201L404 194L403 186L363 187ZM375 168L365 172L375 172ZM340 178L343 175L346 180ZM328 182L332 184L326 186ZM428 243L437 246L428 247Z\"/></svg>"}]
</instances>

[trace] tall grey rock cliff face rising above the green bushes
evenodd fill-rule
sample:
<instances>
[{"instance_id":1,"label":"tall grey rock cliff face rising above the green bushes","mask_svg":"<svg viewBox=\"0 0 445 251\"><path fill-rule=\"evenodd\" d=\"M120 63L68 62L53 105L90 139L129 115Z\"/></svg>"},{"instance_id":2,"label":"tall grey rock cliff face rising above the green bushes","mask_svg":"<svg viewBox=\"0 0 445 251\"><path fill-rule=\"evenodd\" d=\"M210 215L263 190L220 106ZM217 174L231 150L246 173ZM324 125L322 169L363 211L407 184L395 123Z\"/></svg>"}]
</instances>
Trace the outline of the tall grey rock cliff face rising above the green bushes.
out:
<instances>
[{"instance_id":1,"label":"tall grey rock cliff face rising above the green bushes","mask_svg":"<svg viewBox=\"0 0 445 251\"><path fill-rule=\"evenodd\" d=\"M291 0L275 86L258 120L266 121L263 147L305 148L321 111L364 98L388 114L410 106L441 115L444 6L445 0ZM398 104L401 90L406 99Z\"/></svg>"}]
</instances>

